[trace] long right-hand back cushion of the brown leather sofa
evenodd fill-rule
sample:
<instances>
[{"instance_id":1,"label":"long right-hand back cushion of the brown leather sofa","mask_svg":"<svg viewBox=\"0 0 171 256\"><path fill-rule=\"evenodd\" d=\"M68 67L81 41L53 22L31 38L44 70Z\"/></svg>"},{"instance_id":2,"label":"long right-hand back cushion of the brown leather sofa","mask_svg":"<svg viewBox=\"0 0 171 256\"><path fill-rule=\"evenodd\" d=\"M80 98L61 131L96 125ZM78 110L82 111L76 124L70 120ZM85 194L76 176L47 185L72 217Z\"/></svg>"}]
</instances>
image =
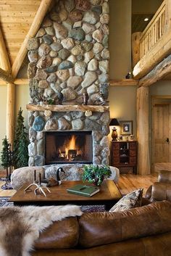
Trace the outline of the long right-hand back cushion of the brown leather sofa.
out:
<instances>
[{"instance_id":1,"label":"long right-hand back cushion of the brown leather sofa","mask_svg":"<svg viewBox=\"0 0 171 256\"><path fill-rule=\"evenodd\" d=\"M84 213L79 219L83 247L171 231L171 202L156 202L125 212Z\"/></svg>"}]
</instances>

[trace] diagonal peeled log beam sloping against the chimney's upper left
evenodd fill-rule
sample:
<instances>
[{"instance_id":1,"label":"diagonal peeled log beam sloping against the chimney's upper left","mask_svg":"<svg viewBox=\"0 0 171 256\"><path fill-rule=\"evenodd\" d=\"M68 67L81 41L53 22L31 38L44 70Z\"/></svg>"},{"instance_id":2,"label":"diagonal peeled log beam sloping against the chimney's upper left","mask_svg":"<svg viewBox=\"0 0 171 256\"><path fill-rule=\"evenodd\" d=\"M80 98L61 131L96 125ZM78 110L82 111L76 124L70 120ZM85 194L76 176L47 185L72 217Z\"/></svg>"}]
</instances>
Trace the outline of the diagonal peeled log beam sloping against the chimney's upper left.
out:
<instances>
[{"instance_id":1,"label":"diagonal peeled log beam sloping against the chimney's upper left","mask_svg":"<svg viewBox=\"0 0 171 256\"><path fill-rule=\"evenodd\" d=\"M51 7L52 3L53 0L41 1L40 7L38 8L38 12L36 13L30 30L28 31L27 36L25 36L25 40L23 41L22 46L17 54L17 57L15 58L14 63L12 65L12 75L14 78L17 77L17 73L19 72L22 62L24 61L25 56L28 52L28 40L36 36L36 33L38 32L38 29L41 27L41 23L43 22L43 18L46 15L46 12L48 11L49 7Z\"/></svg>"}]
</instances>

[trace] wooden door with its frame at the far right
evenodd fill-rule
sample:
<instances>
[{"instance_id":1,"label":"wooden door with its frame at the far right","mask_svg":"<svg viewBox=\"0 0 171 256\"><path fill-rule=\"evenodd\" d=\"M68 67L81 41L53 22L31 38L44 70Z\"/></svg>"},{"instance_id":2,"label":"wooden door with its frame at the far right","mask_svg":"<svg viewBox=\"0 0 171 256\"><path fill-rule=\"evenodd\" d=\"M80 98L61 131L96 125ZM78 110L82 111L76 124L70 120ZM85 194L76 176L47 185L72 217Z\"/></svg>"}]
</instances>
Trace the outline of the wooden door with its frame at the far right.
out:
<instances>
[{"instance_id":1,"label":"wooden door with its frame at the far right","mask_svg":"<svg viewBox=\"0 0 171 256\"><path fill-rule=\"evenodd\" d=\"M171 170L171 96L152 99L152 170Z\"/></svg>"}]
</instances>

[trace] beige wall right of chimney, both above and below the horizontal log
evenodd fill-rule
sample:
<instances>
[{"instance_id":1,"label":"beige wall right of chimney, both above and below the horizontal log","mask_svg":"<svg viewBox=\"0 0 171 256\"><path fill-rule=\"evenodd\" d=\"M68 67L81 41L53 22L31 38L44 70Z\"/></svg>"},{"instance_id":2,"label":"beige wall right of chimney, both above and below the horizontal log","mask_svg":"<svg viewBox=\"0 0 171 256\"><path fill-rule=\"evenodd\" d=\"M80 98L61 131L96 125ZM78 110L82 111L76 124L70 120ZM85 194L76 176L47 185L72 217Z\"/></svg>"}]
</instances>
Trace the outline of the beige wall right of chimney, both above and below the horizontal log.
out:
<instances>
[{"instance_id":1,"label":"beige wall right of chimney, both above and below the horizontal log","mask_svg":"<svg viewBox=\"0 0 171 256\"><path fill-rule=\"evenodd\" d=\"M131 71L131 0L110 0L110 79L123 79ZM110 86L110 117L133 120L136 135L136 87ZM120 128L117 128L120 133Z\"/></svg>"}]
</instances>

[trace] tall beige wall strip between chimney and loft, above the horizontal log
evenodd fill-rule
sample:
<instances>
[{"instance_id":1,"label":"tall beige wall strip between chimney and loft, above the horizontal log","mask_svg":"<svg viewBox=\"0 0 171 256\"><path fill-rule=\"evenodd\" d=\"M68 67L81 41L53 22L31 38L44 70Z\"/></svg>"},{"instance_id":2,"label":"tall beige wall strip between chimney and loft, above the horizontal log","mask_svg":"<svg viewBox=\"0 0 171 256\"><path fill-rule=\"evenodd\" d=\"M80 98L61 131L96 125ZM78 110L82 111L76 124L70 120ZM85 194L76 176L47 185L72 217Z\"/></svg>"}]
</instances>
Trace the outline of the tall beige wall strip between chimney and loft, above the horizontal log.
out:
<instances>
[{"instance_id":1,"label":"tall beige wall strip between chimney and loft, above the horizontal log","mask_svg":"<svg viewBox=\"0 0 171 256\"><path fill-rule=\"evenodd\" d=\"M131 0L110 0L110 79L123 79L131 71Z\"/></svg>"}]
</instances>

